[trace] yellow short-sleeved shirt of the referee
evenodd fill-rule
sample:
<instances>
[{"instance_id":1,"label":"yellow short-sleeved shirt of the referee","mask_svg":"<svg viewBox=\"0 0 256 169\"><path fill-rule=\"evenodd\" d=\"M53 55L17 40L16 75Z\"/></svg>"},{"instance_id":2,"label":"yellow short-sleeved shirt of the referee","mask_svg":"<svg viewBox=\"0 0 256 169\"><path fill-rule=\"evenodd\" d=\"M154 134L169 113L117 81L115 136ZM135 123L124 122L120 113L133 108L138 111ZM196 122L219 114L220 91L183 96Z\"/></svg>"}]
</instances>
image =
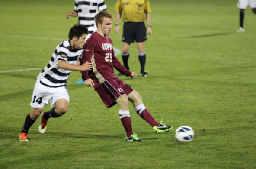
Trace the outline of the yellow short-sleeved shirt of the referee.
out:
<instances>
[{"instance_id":1,"label":"yellow short-sleeved shirt of the referee","mask_svg":"<svg viewBox=\"0 0 256 169\"><path fill-rule=\"evenodd\" d=\"M151 9L148 0L117 0L115 11L123 11L123 22L142 22Z\"/></svg>"}]
</instances>

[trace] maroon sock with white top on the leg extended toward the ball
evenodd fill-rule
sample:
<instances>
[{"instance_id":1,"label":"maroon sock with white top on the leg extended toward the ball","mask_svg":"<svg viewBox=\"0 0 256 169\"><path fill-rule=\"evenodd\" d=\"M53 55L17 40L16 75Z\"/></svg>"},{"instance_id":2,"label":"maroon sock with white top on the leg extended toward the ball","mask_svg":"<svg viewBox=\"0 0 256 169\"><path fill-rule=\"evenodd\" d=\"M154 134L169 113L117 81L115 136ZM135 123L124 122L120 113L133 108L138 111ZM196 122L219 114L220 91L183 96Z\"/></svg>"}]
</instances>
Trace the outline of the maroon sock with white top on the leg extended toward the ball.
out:
<instances>
[{"instance_id":1,"label":"maroon sock with white top on the leg extended toward the ball","mask_svg":"<svg viewBox=\"0 0 256 169\"><path fill-rule=\"evenodd\" d=\"M147 108L144 106L144 104L138 105L134 107L134 110L136 113L144 119L147 123L149 123L152 127L158 126L160 123L158 123L154 117L150 114L150 112L147 110Z\"/></svg>"}]
</instances>

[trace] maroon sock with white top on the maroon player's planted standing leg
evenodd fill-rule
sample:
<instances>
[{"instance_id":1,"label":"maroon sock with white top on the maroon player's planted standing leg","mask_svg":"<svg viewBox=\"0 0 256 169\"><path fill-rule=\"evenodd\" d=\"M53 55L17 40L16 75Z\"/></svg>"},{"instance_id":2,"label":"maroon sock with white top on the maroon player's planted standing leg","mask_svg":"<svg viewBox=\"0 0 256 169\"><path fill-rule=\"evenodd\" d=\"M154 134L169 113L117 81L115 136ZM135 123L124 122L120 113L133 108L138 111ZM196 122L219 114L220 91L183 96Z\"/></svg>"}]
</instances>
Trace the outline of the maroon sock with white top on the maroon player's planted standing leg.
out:
<instances>
[{"instance_id":1,"label":"maroon sock with white top on the maroon player's planted standing leg","mask_svg":"<svg viewBox=\"0 0 256 169\"><path fill-rule=\"evenodd\" d=\"M130 137L132 132L131 117L129 111L119 110L119 118L125 128L126 136Z\"/></svg>"}]
</instances>

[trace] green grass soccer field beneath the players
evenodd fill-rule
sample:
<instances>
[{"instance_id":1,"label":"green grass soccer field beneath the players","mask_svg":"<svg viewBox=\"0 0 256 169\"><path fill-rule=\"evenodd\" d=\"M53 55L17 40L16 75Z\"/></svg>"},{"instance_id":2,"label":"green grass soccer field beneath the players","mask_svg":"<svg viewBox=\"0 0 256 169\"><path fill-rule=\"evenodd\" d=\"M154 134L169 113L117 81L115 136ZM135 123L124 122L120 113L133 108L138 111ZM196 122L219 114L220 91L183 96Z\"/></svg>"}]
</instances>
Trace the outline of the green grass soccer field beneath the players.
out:
<instances>
[{"instance_id":1,"label":"green grass soccer field beneath the players","mask_svg":"<svg viewBox=\"0 0 256 169\"><path fill-rule=\"evenodd\" d=\"M105 2L115 17L116 0ZM38 119L29 130L30 141L23 143L19 132L32 109L36 77L77 18L65 18L74 0L1 0L0 168L255 169L256 15L248 6L246 31L235 33L236 3L150 0L149 76L122 79L142 95L157 121L173 125L170 132L156 135L130 105L133 130L144 142L125 141L118 106L107 109L93 88L74 84L80 78L74 71L67 83L67 114L50 119L45 134L38 132ZM121 49L114 25L110 37ZM129 64L139 74L135 44ZM8 72L30 68L40 69ZM194 129L192 142L174 138L182 125Z\"/></svg>"}]
</instances>

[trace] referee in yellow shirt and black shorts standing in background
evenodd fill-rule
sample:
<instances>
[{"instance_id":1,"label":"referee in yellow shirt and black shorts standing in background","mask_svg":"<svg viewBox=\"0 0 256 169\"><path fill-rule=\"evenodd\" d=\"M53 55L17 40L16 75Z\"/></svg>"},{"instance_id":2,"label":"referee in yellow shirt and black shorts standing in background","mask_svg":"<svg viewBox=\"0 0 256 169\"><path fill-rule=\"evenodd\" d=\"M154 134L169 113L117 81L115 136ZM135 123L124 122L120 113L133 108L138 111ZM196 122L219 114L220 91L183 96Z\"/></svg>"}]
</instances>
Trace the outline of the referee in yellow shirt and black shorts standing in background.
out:
<instances>
[{"instance_id":1,"label":"referee in yellow shirt and black shorts standing in background","mask_svg":"<svg viewBox=\"0 0 256 169\"><path fill-rule=\"evenodd\" d=\"M128 58L131 43L134 40L137 43L139 52L139 61L141 64L140 77L147 77L145 71L146 53L144 50L144 42L147 40L147 33L152 34L150 24L150 5L148 0L117 0L115 4L116 22L115 33L119 34L119 21L123 11L123 36L122 36L122 59L125 68L129 70ZM145 15L144 15L145 13ZM145 27L144 20L147 20L147 28ZM147 33L146 33L147 29ZM118 73L118 75L122 75Z\"/></svg>"}]
</instances>

